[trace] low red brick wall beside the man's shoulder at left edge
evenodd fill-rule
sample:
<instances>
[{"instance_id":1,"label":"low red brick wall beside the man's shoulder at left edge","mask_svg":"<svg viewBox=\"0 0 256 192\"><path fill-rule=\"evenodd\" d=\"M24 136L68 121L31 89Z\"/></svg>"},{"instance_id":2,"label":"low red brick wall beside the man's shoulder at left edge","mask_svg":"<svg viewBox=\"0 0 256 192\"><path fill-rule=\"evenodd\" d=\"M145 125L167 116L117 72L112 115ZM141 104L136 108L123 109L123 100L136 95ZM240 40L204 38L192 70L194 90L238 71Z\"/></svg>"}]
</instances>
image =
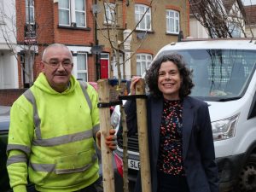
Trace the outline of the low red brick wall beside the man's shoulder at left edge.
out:
<instances>
[{"instance_id":1,"label":"low red brick wall beside the man's shoulder at left edge","mask_svg":"<svg viewBox=\"0 0 256 192\"><path fill-rule=\"evenodd\" d=\"M26 89L0 90L0 105L12 106L13 102L21 96Z\"/></svg>"}]
</instances>

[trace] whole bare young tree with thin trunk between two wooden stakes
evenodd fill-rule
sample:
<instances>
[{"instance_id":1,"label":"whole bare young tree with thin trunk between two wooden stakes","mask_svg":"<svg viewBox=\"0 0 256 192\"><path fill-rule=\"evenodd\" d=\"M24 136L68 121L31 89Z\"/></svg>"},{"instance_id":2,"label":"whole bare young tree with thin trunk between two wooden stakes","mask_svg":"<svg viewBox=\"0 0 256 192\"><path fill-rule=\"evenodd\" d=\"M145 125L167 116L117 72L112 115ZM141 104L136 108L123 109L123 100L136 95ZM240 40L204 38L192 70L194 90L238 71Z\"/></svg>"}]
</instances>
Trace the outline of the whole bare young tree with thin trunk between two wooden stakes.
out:
<instances>
[{"instance_id":1,"label":"whole bare young tree with thin trunk between two wooden stakes","mask_svg":"<svg viewBox=\"0 0 256 192\"><path fill-rule=\"evenodd\" d=\"M158 0L150 0L148 9L151 8L153 3L157 3ZM125 74L121 73L121 67L124 67L125 64L129 61L131 61L131 57L135 55L136 49L139 49L140 46L143 44L143 40L140 42L140 44L137 45L137 48L133 48L131 51L131 36L132 33L135 32L137 26L142 22L142 20L145 20L145 15L148 12L148 9L145 10L143 16L140 18L140 20L137 20L137 23L135 23L135 26L133 26L131 29L124 29L119 25L119 20L122 20L124 11L124 3L125 6L129 5L129 0L126 0L124 2L120 1L108 1L104 0L102 4L96 4L93 8L93 13L95 15L96 20L96 32L99 32L103 38L106 39L109 46L111 47L111 53L113 54L113 57L115 58L115 66L117 67L118 71L118 79L119 79L119 86L122 84L122 77L125 77ZM101 20L97 17L98 14L104 15L104 23L105 26L102 26ZM147 29L149 29L149 26L147 26ZM144 35L146 35L148 30L145 32ZM123 35L124 33L124 35ZM143 38L144 39L144 38ZM128 53L127 53L127 49ZM125 61L120 61L119 54L126 52L126 58ZM125 70L123 70L125 72ZM123 89L120 89L119 87L119 94L123 95L122 92ZM121 113L122 118L125 117L123 106L121 106ZM125 119L122 119L123 122L125 122ZM127 160L127 151L128 151L128 139L127 139L127 128L126 126L123 126L123 172L124 172L124 192L129 191L128 187L128 160Z\"/></svg>"}]
</instances>

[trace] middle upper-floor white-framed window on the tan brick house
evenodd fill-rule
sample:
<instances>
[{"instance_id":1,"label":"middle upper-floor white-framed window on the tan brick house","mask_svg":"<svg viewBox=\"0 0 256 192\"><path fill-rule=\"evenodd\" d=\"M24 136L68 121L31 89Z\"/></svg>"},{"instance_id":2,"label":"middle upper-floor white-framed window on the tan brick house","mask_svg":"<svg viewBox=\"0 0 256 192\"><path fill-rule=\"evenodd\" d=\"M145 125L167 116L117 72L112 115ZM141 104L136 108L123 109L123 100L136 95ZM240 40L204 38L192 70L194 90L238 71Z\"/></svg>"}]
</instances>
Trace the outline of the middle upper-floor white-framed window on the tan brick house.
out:
<instances>
[{"instance_id":1,"label":"middle upper-floor white-framed window on the tan brick house","mask_svg":"<svg viewBox=\"0 0 256 192\"><path fill-rule=\"evenodd\" d=\"M151 9L147 5L135 4L135 21L139 23L137 30L151 31Z\"/></svg>"}]
</instances>

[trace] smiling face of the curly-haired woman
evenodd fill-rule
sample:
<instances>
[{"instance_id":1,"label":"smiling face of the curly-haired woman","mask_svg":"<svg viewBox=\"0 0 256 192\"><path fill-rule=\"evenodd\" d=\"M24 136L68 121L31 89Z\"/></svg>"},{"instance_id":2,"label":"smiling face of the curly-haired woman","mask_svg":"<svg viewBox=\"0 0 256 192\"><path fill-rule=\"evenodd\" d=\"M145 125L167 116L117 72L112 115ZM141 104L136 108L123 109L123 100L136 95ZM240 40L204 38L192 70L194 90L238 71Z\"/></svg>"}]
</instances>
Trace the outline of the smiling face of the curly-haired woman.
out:
<instances>
[{"instance_id":1,"label":"smiling face of the curly-haired woman","mask_svg":"<svg viewBox=\"0 0 256 192\"><path fill-rule=\"evenodd\" d=\"M163 93L164 98L178 100L181 83L177 65L172 61L162 62L158 72L158 89Z\"/></svg>"}]
</instances>

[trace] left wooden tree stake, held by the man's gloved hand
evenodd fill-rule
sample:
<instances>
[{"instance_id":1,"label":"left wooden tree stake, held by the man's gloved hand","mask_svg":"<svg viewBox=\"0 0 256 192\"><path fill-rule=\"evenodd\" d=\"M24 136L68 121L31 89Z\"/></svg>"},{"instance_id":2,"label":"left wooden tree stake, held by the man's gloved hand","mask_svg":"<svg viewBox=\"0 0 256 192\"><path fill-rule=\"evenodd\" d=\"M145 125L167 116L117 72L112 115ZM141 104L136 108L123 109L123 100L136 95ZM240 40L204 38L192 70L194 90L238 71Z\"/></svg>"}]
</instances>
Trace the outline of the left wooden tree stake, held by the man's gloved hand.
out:
<instances>
[{"instance_id":1,"label":"left wooden tree stake, held by the man's gloved hand","mask_svg":"<svg viewBox=\"0 0 256 192\"><path fill-rule=\"evenodd\" d=\"M97 81L99 102L109 102L109 85L108 79ZM114 192L114 175L113 175L113 153L107 147L105 138L109 135L111 128L109 108L99 108L100 126L102 132L101 151L102 151L102 174L104 192Z\"/></svg>"}]
</instances>

